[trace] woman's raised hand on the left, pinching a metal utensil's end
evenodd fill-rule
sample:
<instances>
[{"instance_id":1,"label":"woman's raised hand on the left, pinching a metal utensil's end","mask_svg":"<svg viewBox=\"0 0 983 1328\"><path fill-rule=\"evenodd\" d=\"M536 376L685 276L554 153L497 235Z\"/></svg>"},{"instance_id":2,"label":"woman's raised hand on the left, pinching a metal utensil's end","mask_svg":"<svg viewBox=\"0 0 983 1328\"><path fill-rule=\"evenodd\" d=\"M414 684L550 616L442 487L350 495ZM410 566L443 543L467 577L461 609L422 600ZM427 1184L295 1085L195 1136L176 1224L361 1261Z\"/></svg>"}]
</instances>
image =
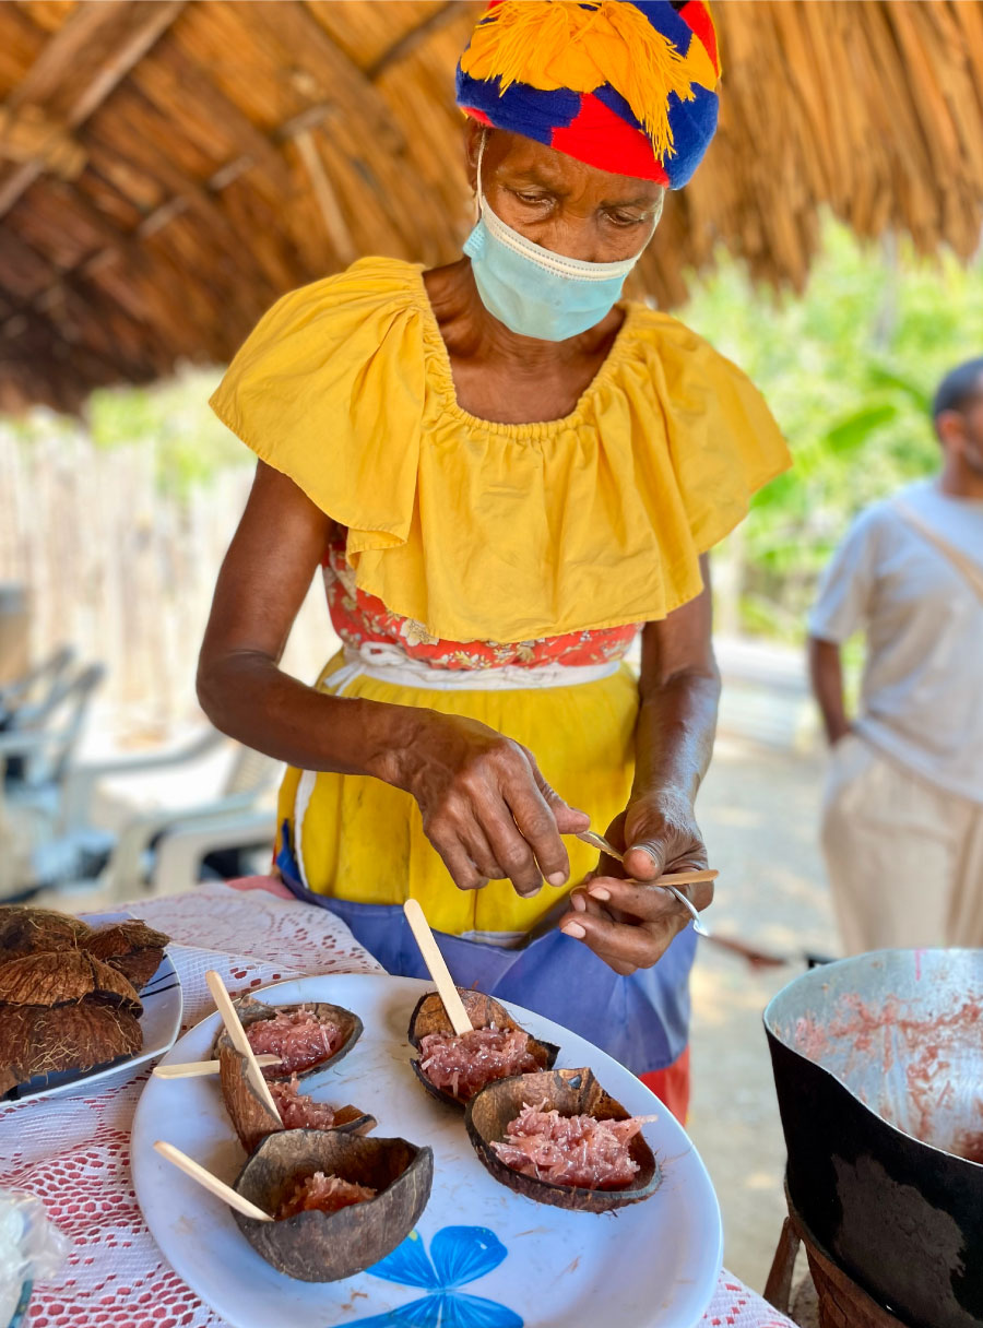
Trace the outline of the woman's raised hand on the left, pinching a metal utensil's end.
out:
<instances>
[{"instance_id":1,"label":"woman's raised hand on the left, pinching a metal utensil's end","mask_svg":"<svg viewBox=\"0 0 983 1328\"><path fill-rule=\"evenodd\" d=\"M561 834L590 818L555 793L526 748L494 729L421 710L412 745L391 782L412 793L424 831L461 890L509 878L517 894L562 886L570 859Z\"/></svg>"}]
</instances>

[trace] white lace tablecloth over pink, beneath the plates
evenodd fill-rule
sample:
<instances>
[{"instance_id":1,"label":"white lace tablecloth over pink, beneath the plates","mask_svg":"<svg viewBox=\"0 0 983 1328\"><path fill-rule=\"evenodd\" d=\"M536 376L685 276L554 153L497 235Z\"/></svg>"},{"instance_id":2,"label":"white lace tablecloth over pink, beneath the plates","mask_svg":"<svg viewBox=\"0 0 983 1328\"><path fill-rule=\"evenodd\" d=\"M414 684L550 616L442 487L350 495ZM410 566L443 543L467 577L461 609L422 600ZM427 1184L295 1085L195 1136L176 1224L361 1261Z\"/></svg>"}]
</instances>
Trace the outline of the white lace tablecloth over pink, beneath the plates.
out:
<instances>
[{"instance_id":1,"label":"white lace tablecloth over pink, beneath the plates","mask_svg":"<svg viewBox=\"0 0 983 1328\"><path fill-rule=\"evenodd\" d=\"M231 991L306 973L381 972L332 914L267 890L201 886L141 902L133 912L174 940L170 955L181 975L186 1028L213 1007L205 985L209 968L218 969ZM61 1280L35 1289L31 1328L223 1324L162 1259L137 1206L130 1122L147 1074L146 1066L124 1069L92 1096L28 1101L0 1113L0 1189L40 1195L73 1242ZM792 1328L728 1272L703 1324Z\"/></svg>"}]
</instances>

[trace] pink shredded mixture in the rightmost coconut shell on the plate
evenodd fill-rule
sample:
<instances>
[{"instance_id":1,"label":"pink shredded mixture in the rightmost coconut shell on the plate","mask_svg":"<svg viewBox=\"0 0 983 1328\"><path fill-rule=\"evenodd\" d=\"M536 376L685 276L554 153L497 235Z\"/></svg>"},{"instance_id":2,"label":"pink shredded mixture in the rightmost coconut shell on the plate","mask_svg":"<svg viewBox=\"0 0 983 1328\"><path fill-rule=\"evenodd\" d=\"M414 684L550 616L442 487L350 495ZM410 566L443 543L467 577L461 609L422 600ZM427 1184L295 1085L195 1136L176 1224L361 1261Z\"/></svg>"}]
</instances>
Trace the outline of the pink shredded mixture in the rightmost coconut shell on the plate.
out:
<instances>
[{"instance_id":1,"label":"pink shredded mixture in the rightmost coconut shell on the plate","mask_svg":"<svg viewBox=\"0 0 983 1328\"><path fill-rule=\"evenodd\" d=\"M506 1166L537 1181L575 1185L586 1190L620 1190L635 1178L638 1162L630 1141L642 1129L636 1117L599 1121L592 1116L561 1116L523 1105L509 1122L503 1143L493 1143Z\"/></svg>"}]
</instances>

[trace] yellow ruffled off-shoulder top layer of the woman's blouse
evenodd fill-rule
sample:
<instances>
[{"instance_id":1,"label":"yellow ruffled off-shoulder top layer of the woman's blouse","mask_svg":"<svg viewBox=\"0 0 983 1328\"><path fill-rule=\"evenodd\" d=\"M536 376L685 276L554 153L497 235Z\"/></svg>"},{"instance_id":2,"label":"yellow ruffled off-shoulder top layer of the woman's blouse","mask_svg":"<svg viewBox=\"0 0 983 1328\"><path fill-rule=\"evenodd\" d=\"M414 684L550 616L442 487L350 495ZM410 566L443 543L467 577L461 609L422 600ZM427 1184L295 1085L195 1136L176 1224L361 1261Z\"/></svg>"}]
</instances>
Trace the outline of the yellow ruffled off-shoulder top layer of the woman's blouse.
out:
<instances>
[{"instance_id":1,"label":"yellow ruffled off-shoulder top layer of the woman's blouse","mask_svg":"<svg viewBox=\"0 0 983 1328\"><path fill-rule=\"evenodd\" d=\"M436 637L651 622L790 458L736 365L623 308L569 416L497 424L457 404L422 267L364 258L280 299L211 406L347 527L356 584Z\"/></svg>"}]
</instances>

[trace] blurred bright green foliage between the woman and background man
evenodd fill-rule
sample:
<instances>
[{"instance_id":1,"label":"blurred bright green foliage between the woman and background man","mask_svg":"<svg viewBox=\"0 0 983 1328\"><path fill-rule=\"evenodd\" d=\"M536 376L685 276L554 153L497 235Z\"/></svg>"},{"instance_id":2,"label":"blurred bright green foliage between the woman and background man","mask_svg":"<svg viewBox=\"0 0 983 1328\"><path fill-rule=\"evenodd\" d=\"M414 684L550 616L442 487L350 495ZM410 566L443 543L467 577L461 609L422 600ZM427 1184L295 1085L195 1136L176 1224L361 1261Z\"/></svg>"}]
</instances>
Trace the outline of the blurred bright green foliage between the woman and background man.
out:
<instances>
[{"instance_id":1,"label":"blurred bright green foliage between the woman and background man","mask_svg":"<svg viewBox=\"0 0 983 1328\"><path fill-rule=\"evenodd\" d=\"M755 499L739 540L745 629L800 639L816 578L865 506L939 463L929 418L947 369L983 351L983 264L861 246L829 223L802 299L776 301L721 254L680 316L772 406L794 469Z\"/></svg>"}]
</instances>

